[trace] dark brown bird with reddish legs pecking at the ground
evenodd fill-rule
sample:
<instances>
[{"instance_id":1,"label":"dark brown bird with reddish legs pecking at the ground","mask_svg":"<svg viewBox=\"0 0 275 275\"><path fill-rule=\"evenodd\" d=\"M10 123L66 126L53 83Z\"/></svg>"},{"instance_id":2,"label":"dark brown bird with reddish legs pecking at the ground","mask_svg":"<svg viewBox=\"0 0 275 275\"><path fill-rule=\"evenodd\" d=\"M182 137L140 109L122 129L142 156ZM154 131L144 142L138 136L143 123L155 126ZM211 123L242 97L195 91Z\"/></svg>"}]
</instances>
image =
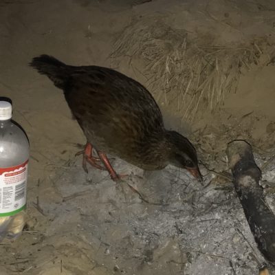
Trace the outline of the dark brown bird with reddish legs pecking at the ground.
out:
<instances>
[{"instance_id":1,"label":"dark brown bird with reddish legs pecking at the ground","mask_svg":"<svg viewBox=\"0 0 275 275\"><path fill-rule=\"evenodd\" d=\"M111 178L119 179L105 155L108 153L144 170L160 170L173 164L202 179L195 148L186 137L164 128L153 96L137 81L113 69L65 65L47 55L33 58L30 66L63 89L87 137L85 171L86 162L101 169L101 160ZM93 148L98 157L92 155Z\"/></svg>"}]
</instances>

